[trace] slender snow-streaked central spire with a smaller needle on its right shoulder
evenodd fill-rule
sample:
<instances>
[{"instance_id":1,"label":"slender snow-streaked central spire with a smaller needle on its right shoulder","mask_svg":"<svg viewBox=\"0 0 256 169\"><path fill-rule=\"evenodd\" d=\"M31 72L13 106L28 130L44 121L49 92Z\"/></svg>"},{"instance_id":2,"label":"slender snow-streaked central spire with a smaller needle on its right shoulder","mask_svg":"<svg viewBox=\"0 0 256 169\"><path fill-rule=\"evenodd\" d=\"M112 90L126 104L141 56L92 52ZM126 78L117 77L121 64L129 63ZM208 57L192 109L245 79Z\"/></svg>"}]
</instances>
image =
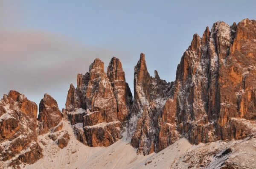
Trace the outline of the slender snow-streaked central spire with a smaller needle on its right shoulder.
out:
<instances>
[{"instance_id":1,"label":"slender snow-streaked central spire with a smaller needle on its right shoulder","mask_svg":"<svg viewBox=\"0 0 256 169\"><path fill-rule=\"evenodd\" d=\"M160 79L155 70L155 77L148 73L145 55L134 68L134 104L128 126L131 145L138 148L138 153L148 154L158 151L158 118L166 100L172 96L174 83Z\"/></svg>"}]
</instances>

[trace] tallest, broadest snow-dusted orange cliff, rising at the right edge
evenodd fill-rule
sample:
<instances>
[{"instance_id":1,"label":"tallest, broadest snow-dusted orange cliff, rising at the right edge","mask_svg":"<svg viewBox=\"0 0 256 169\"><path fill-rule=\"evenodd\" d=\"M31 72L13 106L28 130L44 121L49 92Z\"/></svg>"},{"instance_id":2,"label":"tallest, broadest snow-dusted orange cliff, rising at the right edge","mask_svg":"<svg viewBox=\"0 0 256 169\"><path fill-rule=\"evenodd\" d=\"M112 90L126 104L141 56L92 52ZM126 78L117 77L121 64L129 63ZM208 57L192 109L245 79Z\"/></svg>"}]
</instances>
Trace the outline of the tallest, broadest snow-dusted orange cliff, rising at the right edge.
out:
<instances>
[{"instance_id":1,"label":"tallest, broadest snow-dusted orange cliff, rising at the right edge","mask_svg":"<svg viewBox=\"0 0 256 169\"><path fill-rule=\"evenodd\" d=\"M246 26L245 26L246 25ZM224 22L194 35L177 69L179 130L192 143L239 139L255 120L255 21ZM248 37L251 39L248 40ZM186 93L186 91L189 91Z\"/></svg>"}]
</instances>

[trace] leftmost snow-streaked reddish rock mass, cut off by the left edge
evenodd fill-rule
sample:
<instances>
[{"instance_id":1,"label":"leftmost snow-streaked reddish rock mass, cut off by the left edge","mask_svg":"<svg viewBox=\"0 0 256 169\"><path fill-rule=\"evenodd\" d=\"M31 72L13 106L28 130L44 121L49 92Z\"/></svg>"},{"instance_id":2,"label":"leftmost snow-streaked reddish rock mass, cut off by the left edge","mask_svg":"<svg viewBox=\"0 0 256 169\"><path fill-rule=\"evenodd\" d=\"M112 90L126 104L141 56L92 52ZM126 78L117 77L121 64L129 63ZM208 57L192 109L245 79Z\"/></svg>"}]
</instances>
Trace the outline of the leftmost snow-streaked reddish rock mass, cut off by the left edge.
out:
<instances>
[{"instance_id":1,"label":"leftmost snow-streaked reddish rock mass, cut off by the left edge","mask_svg":"<svg viewBox=\"0 0 256 169\"><path fill-rule=\"evenodd\" d=\"M42 151L37 142L37 105L26 96L11 90L0 101L0 159L35 163Z\"/></svg>"}]
</instances>

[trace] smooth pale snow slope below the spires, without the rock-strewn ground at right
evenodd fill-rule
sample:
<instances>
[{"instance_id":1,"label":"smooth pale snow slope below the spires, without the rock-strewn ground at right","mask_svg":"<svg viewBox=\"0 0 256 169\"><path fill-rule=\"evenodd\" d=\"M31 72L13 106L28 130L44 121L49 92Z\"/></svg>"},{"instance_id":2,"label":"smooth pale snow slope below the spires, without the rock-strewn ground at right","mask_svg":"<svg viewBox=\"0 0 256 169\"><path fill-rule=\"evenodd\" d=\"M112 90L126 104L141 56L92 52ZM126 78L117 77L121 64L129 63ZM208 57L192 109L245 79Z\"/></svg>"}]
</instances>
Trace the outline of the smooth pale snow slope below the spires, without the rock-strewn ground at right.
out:
<instances>
[{"instance_id":1,"label":"smooth pale snow slope below the spires, without the rock-strewn ground at right","mask_svg":"<svg viewBox=\"0 0 256 169\"><path fill-rule=\"evenodd\" d=\"M123 138L108 147L89 147L76 140L70 122L62 121L63 129L70 134L70 141L64 149L52 141L48 134L39 136L40 146L44 147L44 158L32 165L26 165L25 169L130 169L130 168L169 168L171 164L186 152L192 145L182 138L177 143L169 146L159 153L147 156L137 155L127 141L127 132ZM46 143L46 146L42 143ZM21 166L22 167L22 166Z\"/></svg>"}]
</instances>

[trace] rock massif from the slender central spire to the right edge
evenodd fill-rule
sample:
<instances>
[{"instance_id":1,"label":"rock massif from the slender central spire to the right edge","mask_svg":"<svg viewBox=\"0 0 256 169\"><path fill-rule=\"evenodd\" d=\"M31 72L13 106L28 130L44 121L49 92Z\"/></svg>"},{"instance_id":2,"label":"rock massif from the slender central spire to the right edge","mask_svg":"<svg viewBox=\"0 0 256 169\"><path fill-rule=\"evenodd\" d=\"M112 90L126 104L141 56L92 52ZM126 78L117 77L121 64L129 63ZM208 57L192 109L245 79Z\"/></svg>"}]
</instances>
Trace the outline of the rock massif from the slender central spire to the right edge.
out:
<instances>
[{"instance_id":1,"label":"rock massif from the slender central spire to the right edge","mask_svg":"<svg viewBox=\"0 0 256 169\"><path fill-rule=\"evenodd\" d=\"M141 54L128 129L137 152L158 152L179 137L192 144L247 137L256 120L255 39L255 20L214 23L193 36L171 83L152 78Z\"/></svg>"}]
</instances>

